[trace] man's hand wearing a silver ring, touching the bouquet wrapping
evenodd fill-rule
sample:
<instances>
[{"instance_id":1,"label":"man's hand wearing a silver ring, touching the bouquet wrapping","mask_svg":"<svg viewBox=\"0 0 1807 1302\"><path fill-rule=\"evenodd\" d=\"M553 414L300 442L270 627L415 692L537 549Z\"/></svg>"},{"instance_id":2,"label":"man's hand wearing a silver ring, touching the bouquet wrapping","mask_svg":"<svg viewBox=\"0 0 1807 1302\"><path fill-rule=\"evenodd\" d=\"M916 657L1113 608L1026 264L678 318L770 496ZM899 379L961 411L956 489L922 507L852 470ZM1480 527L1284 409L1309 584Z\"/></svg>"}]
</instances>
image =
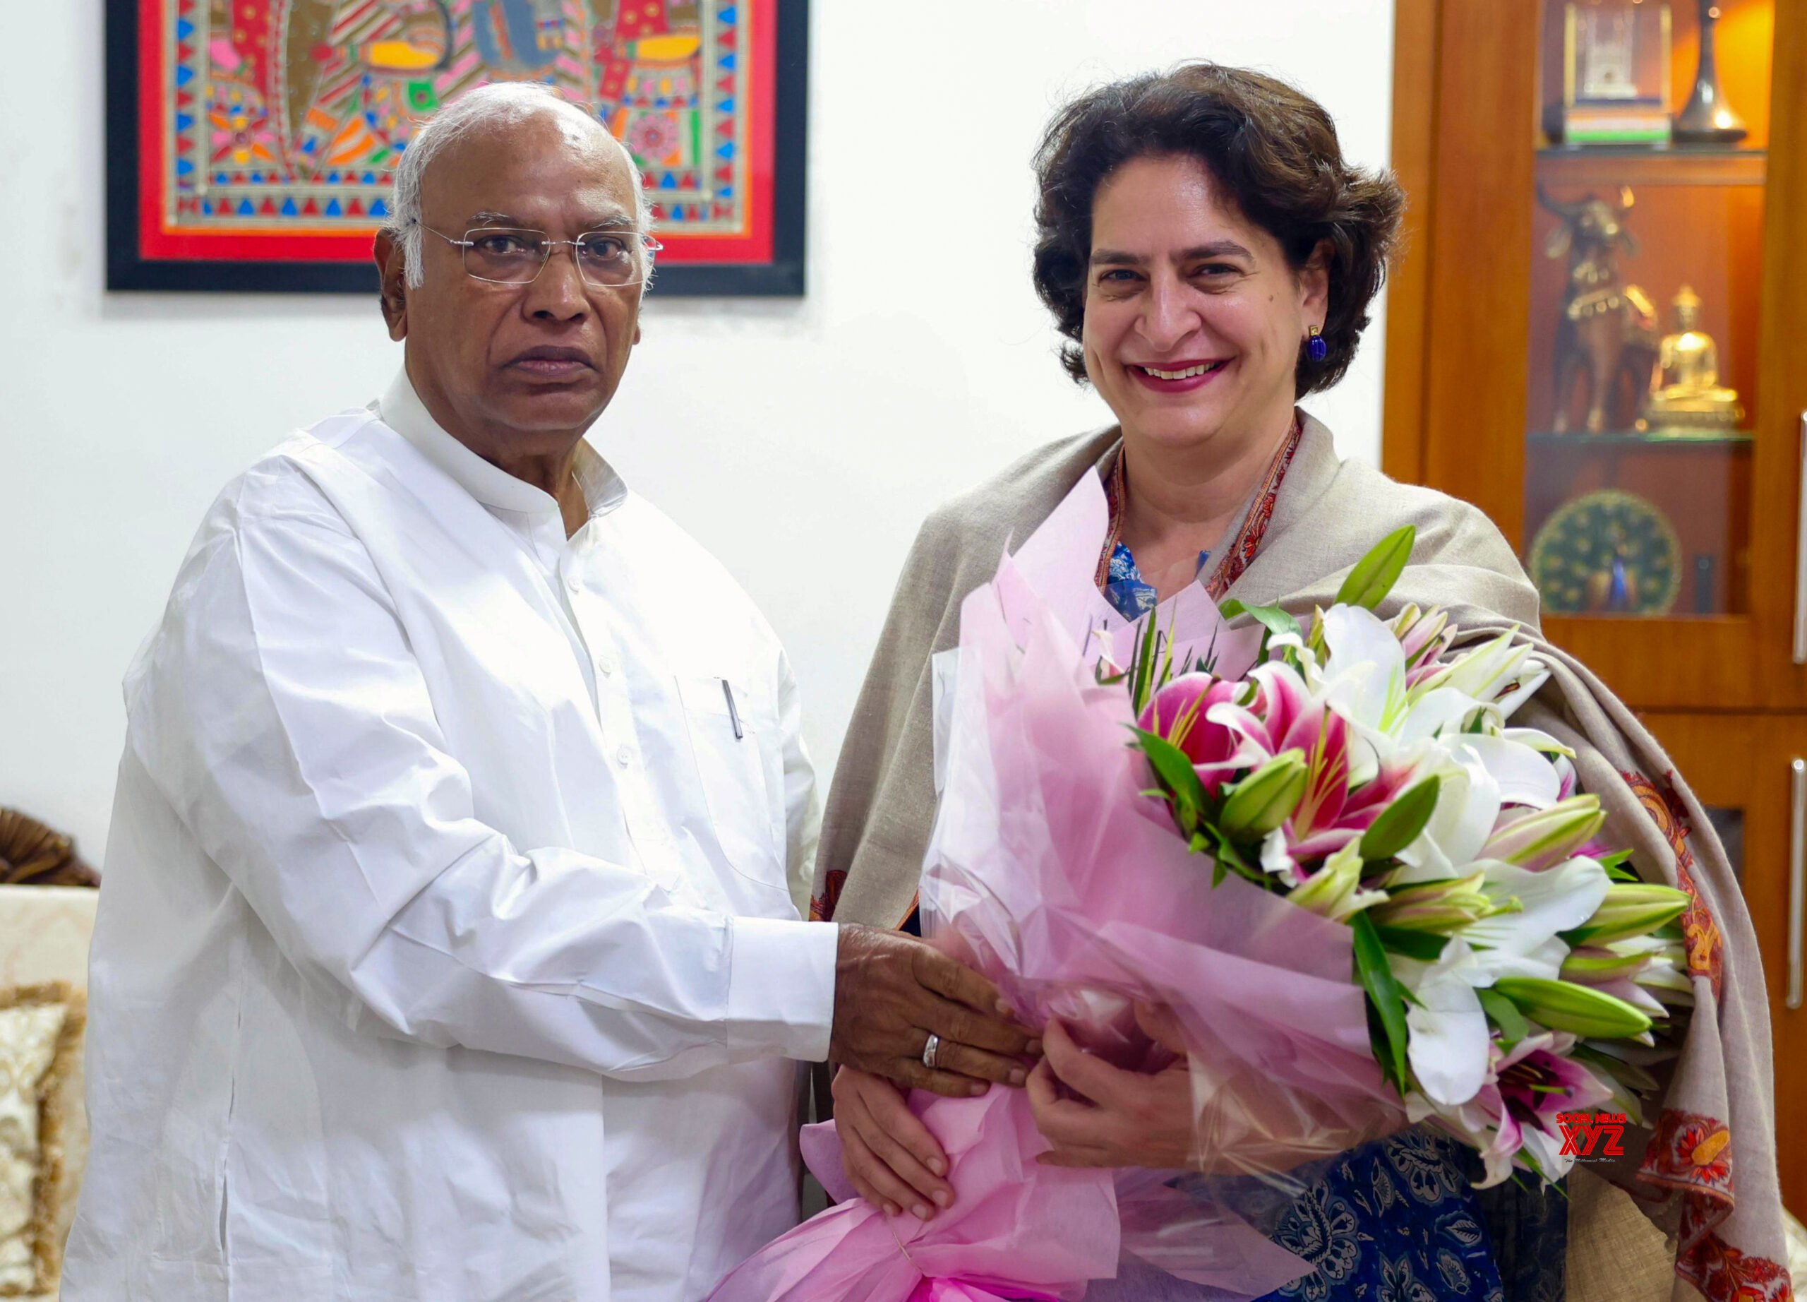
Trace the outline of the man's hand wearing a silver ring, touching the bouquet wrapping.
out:
<instances>
[{"instance_id":1,"label":"man's hand wearing a silver ring, touching the bouquet wrapping","mask_svg":"<svg viewBox=\"0 0 1807 1302\"><path fill-rule=\"evenodd\" d=\"M829 1061L954 1098L1021 1085L1021 1056L1041 1047L1008 1014L996 986L932 946L842 924ZM922 1061L931 1034L941 1036L934 1071Z\"/></svg>"}]
</instances>

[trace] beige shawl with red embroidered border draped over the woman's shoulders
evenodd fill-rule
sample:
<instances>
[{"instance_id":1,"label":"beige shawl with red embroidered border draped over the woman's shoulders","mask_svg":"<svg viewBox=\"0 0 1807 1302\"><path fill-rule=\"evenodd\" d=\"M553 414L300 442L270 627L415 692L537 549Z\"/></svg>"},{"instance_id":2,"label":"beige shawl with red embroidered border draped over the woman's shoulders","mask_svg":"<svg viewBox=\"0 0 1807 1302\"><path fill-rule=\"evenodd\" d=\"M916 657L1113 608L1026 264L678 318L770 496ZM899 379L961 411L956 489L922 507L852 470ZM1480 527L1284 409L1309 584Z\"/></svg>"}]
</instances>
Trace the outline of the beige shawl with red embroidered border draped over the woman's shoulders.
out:
<instances>
[{"instance_id":1,"label":"beige shawl with red embroidered border draped over the woman's shoulders","mask_svg":"<svg viewBox=\"0 0 1807 1302\"><path fill-rule=\"evenodd\" d=\"M909 917L934 823L929 658L958 642L960 600L992 577L1005 548L1028 537L1088 468L1108 472L1119 448L1117 429L1050 443L923 523L835 769L815 917L875 926ZM1308 615L1335 599L1343 575L1377 539L1415 524L1411 564L1382 615L1408 600L1442 606L1469 635L1518 626L1538 642L1554 673L1518 718L1576 749L1585 788L1608 808L1605 835L1635 850L1641 875L1679 884L1695 901L1684 922L1697 1007L1681 1056L1661 1107L1646 1118L1650 1128L1628 1130L1626 1157L1594 1170L1679 1239L1670 1277L1677 1297L1691 1295L1688 1284L1711 1302L1787 1297L1764 975L1738 884L1693 794L1632 712L1538 638L1536 590L1476 508L1341 461L1330 432L1306 416L1278 495L1249 510L1243 537L1263 526L1265 535L1231 597ZM1259 519L1265 512L1270 517ZM1614 1206L1592 1195L1587 1204ZM1661 1250L1648 1226L1639 1237L1623 1221L1597 1231L1572 1224L1576 1250L1587 1253L1590 1242ZM1608 1266L1615 1275L1606 1277L1619 1280L1614 1297L1648 1297L1632 1284L1646 1264Z\"/></svg>"}]
</instances>

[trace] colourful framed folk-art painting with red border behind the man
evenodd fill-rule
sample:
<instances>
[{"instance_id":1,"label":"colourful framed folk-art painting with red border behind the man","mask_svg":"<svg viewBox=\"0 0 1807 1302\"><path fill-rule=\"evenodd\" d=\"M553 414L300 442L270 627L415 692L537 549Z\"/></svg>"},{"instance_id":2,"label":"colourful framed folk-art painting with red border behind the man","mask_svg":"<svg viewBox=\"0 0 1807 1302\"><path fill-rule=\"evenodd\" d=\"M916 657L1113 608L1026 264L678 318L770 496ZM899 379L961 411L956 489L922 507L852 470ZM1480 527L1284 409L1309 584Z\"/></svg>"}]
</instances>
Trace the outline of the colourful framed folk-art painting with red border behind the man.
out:
<instances>
[{"instance_id":1,"label":"colourful framed folk-art painting with red border behind the man","mask_svg":"<svg viewBox=\"0 0 1807 1302\"><path fill-rule=\"evenodd\" d=\"M804 291L808 0L107 0L107 288L376 293L410 132L504 80L634 154L658 293Z\"/></svg>"}]
</instances>

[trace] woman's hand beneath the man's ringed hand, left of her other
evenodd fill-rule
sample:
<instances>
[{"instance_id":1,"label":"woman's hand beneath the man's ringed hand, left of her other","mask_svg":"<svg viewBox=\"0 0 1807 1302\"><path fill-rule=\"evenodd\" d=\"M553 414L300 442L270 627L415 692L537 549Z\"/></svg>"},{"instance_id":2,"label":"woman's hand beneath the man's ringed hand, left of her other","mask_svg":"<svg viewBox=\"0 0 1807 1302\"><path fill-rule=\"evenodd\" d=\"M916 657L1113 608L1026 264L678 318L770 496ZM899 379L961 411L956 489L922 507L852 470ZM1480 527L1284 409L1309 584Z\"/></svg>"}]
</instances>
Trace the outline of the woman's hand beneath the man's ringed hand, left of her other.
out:
<instances>
[{"instance_id":1,"label":"woman's hand beneath the man's ringed hand, left of her other","mask_svg":"<svg viewBox=\"0 0 1807 1302\"><path fill-rule=\"evenodd\" d=\"M840 1165L855 1192L885 1215L909 1208L922 1221L954 1203L947 1154L891 1081L853 1067L835 1072Z\"/></svg>"}]
</instances>

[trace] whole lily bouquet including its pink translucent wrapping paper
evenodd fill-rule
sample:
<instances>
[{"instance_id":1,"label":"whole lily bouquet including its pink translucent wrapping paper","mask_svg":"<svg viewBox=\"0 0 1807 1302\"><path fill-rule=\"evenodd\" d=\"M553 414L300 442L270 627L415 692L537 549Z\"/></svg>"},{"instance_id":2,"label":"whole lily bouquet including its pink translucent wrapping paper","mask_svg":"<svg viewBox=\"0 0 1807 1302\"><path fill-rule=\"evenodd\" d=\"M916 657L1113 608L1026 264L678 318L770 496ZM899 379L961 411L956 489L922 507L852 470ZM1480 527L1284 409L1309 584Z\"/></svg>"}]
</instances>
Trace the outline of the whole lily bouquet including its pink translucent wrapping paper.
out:
<instances>
[{"instance_id":1,"label":"whole lily bouquet including its pink translucent wrapping paper","mask_svg":"<svg viewBox=\"0 0 1807 1302\"><path fill-rule=\"evenodd\" d=\"M923 935L1119 1069L1184 1052L1189 1170L1039 1163L1025 1090L916 1090L952 1204L887 1217L806 1127L837 1206L712 1302L1263 1297L1310 1271L1269 1230L1348 1148L1435 1118L1489 1179L1554 1179L1558 1112L1652 1085L1682 897L1594 846L1570 754L1509 725L1532 653L1379 620L1409 533L1310 629L1202 586L1133 624L1093 582L1106 524L1086 476L934 660Z\"/></svg>"}]
</instances>

